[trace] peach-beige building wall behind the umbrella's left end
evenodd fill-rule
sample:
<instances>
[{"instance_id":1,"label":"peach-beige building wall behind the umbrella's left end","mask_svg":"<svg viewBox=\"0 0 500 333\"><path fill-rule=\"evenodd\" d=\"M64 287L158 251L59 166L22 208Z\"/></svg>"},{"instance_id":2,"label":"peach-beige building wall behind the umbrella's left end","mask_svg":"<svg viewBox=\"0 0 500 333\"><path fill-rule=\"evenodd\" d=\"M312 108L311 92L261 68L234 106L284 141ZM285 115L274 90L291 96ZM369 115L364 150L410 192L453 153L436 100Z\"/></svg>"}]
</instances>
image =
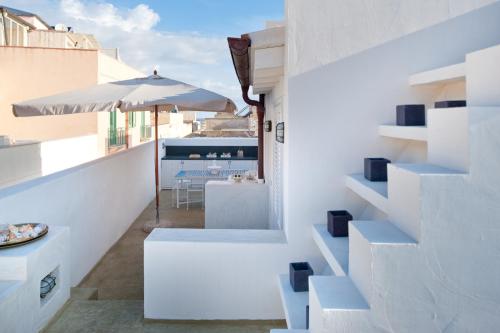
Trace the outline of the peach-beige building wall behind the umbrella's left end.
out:
<instances>
[{"instance_id":1,"label":"peach-beige building wall behind the umbrella's left end","mask_svg":"<svg viewBox=\"0 0 500 333\"><path fill-rule=\"evenodd\" d=\"M0 47L0 133L51 140L97 132L96 114L16 118L12 103L97 83L97 51Z\"/></svg>"}]
</instances>

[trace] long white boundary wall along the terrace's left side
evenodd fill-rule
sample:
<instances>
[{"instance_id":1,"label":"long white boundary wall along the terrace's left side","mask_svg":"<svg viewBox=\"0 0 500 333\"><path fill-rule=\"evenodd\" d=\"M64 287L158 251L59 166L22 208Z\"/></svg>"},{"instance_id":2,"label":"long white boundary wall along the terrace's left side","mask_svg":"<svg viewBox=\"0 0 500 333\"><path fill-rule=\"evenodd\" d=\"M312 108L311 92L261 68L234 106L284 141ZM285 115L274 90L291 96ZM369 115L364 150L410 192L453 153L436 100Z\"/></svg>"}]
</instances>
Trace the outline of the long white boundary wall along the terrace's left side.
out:
<instances>
[{"instance_id":1,"label":"long white boundary wall along the terrace's left side","mask_svg":"<svg viewBox=\"0 0 500 333\"><path fill-rule=\"evenodd\" d=\"M154 145L0 190L0 223L69 226L77 285L154 198Z\"/></svg>"}]
</instances>

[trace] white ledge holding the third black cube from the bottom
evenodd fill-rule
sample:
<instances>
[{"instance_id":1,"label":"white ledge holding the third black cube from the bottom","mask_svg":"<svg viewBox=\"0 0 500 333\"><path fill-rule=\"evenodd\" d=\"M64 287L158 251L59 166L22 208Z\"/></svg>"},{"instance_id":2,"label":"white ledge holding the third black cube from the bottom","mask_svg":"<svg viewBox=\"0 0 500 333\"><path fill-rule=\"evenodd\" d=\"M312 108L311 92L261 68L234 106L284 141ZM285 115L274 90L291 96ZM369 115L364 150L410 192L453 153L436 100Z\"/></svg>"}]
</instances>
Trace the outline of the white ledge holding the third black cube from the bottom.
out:
<instances>
[{"instance_id":1,"label":"white ledge holding the third black cube from the bottom","mask_svg":"<svg viewBox=\"0 0 500 333\"><path fill-rule=\"evenodd\" d=\"M346 186L382 212L388 212L387 182L371 182L360 173L347 176Z\"/></svg>"}]
</instances>

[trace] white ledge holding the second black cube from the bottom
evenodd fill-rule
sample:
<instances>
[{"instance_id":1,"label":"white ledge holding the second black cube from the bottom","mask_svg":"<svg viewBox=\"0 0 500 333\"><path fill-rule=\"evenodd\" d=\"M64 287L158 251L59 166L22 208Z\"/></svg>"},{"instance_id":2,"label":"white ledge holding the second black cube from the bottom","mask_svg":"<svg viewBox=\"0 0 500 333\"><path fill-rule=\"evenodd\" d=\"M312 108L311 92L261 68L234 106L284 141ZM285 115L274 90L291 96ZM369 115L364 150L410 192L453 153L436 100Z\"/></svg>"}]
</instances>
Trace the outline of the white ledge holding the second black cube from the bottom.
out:
<instances>
[{"instance_id":1,"label":"white ledge holding the second black cube from the bottom","mask_svg":"<svg viewBox=\"0 0 500 333\"><path fill-rule=\"evenodd\" d=\"M326 224L313 225L313 239L336 276L349 272L349 237L332 237Z\"/></svg>"}]
</instances>

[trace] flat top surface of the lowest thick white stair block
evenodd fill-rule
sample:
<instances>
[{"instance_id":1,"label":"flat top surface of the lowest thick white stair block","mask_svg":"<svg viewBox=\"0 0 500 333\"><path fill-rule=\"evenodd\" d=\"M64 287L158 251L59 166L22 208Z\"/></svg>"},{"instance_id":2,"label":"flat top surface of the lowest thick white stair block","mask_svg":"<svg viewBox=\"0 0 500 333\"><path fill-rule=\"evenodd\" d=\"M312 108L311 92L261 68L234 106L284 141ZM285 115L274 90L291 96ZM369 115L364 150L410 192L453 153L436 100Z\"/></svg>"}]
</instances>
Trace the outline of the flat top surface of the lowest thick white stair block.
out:
<instances>
[{"instance_id":1,"label":"flat top surface of the lowest thick white stair block","mask_svg":"<svg viewBox=\"0 0 500 333\"><path fill-rule=\"evenodd\" d=\"M310 276L309 291L323 311L369 310L358 288L347 276Z\"/></svg>"}]
</instances>

